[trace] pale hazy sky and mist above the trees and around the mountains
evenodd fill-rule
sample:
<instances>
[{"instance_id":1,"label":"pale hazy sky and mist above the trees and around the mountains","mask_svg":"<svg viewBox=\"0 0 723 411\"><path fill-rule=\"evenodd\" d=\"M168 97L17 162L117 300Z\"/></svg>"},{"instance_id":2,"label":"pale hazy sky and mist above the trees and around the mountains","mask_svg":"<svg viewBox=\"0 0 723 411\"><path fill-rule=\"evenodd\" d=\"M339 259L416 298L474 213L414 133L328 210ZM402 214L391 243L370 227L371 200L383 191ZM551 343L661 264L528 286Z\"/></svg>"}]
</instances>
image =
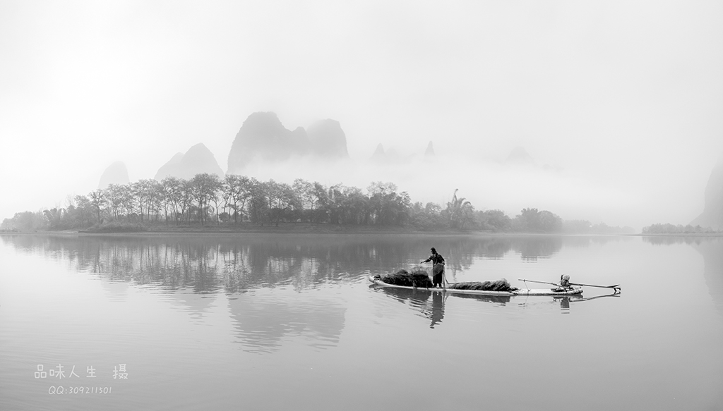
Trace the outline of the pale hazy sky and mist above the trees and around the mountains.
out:
<instances>
[{"instance_id":1,"label":"pale hazy sky and mist above the trees and around the mountains","mask_svg":"<svg viewBox=\"0 0 723 411\"><path fill-rule=\"evenodd\" d=\"M340 121L355 165L249 175L686 224L723 153L722 21L720 1L0 0L0 220L116 160L153 178L202 142L226 170L244 119L275 111ZM430 140L435 163L366 165ZM515 147L539 167L500 165Z\"/></svg>"}]
</instances>

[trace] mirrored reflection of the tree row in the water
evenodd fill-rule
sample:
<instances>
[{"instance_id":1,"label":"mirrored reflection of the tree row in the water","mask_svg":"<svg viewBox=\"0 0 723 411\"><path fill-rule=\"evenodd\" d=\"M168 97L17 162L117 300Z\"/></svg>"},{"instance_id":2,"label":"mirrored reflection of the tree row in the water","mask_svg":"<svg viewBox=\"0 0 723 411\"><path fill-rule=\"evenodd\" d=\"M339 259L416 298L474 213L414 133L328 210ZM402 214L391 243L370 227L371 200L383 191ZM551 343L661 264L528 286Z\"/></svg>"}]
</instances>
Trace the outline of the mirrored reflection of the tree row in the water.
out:
<instances>
[{"instance_id":1,"label":"mirrored reflection of the tree row in the water","mask_svg":"<svg viewBox=\"0 0 723 411\"><path fill-rule=\"evenodd\" d=\"M372 235L92 236L2 235L3 243L67 261L78 271L111 281L132 281L195 293L289 283L296 289L321 282L385 272L427 256L430 246L448 261L448 272L469 269L474 258L524 261L549 258L565 246L588 246L596 237L431 237Z\"/></svg>"}]
</instances>

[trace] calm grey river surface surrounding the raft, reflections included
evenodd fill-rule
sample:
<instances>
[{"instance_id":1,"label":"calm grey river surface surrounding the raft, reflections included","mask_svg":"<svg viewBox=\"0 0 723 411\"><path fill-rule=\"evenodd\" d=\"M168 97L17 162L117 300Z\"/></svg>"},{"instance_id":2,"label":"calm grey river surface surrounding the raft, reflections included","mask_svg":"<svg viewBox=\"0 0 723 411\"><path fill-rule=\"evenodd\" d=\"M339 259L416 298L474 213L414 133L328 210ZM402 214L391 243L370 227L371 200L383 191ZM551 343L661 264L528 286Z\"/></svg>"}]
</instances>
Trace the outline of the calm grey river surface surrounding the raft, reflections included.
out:
<instances>
[{"instance_id":1,"label":"calm grey river surface surrounding the raft, reflections included","mask_svg":"<svg viewBox=\"0 0 723 411\"><path fill-rule=\"evenodd\" d=\"M623 292L369 287L430 246ZM0 410L721 410L723 239L2 236L0 364Z\"/></svg>"}]
</instances>

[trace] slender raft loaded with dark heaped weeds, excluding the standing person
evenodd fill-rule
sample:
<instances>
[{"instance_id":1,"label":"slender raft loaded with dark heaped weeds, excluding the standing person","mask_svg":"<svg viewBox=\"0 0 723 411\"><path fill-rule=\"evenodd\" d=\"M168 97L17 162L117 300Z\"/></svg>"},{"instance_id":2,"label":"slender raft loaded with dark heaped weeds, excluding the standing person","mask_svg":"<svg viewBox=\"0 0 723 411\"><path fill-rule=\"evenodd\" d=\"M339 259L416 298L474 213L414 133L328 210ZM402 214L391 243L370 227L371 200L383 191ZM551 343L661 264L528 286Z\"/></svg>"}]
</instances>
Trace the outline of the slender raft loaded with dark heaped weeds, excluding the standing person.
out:
<instances>
[{"instance_id":1,"label":"slender raft loaded with dark heaped weeds, excluding the standing person","mask_svg":"<svg viewBox=\"0 0 723 411\"><path fill-rule=\"evenodd\" d=\"M452 282L445 288L432 286L427 272L419 270L407 272L401 269L393 274L370 275L369 281L381 287L406 288L409 290L428 290L437 293L458 293L476 295L576 295L583 292L582 287L557 288L518 288L510 285L507 280L483 282Z\"/></svg>"}]
</instances>

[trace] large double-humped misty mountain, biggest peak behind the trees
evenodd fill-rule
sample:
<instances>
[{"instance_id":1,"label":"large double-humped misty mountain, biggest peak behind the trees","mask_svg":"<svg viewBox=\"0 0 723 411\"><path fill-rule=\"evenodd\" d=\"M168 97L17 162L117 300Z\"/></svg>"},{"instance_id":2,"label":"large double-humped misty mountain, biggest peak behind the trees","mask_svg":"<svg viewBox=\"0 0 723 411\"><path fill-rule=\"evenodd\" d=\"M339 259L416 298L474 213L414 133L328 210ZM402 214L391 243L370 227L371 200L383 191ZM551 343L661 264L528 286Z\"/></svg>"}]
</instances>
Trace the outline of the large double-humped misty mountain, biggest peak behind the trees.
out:
<instances>
[{"instance_id":1,"label":"large double-humped misty mountain, biggest peak behind the trees","mask_svg":"<svg viewBox=\"0 0 723 411\"><path fill-rule=\"evenodd\" d=\"M346 135L341 124L326 119L312 124L308 131L303 127L291 131L281 124L276 113L252 113L231 144L228 173L242 173L254 159L278 162L294 155L309 155L320 160L348 158Z\"/></svg>"}]
</instances>

